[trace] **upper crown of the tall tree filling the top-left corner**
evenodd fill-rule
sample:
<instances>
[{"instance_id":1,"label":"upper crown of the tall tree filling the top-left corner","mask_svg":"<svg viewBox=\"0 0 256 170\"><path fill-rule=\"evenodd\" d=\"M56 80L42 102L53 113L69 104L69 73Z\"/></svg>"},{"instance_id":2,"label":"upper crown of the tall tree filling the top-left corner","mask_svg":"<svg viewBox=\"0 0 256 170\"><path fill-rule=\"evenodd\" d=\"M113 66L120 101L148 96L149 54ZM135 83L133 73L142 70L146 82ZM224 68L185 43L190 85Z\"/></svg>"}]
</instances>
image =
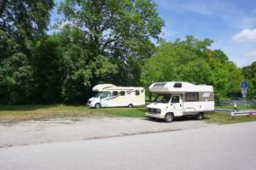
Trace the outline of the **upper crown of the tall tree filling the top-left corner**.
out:
<instances>
[{"instance_id":1,"label":"upper crown of the tall tree filling the top-left corner","mask_svg":"<svg viewBox=\"0 0 256 170\"><path fill-rule=\"evenodd\" d=\"M22 52L30 54L32 40L49 24L53 0L0 1L0 59Z\"/></svg>"}]
</instances>

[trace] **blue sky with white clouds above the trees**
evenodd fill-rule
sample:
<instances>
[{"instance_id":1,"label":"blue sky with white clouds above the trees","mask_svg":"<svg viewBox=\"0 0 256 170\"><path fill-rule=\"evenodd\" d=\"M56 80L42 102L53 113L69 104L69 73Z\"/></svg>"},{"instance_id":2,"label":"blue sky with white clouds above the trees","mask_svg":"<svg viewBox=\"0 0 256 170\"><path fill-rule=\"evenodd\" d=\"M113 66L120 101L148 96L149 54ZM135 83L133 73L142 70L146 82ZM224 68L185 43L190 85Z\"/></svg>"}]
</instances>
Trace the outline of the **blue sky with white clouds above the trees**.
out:
<instances>
[{"instance_id":1,"label":"blue sky with white clouds above the trees","mask_svg":"<svg viewBox=\"0 0 256 170\"><path fill-rule=\"evenodd\" d=\"M56 0L60 2L60 0ZM167 41L211 38L239 67L256 61L256 0L155 0ZM60 16L54 10L51 24Z\"/></svg>"}]
</instances>

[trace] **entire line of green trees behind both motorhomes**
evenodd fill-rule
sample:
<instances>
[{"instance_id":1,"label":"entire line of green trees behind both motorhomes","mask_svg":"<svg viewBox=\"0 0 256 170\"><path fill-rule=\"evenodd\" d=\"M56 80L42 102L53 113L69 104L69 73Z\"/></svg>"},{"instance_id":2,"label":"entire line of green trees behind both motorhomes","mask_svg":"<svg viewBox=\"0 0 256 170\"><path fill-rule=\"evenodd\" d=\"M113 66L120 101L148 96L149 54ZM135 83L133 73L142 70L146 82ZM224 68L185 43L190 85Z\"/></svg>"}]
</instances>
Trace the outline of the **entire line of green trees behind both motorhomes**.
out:
<instances>
[{"instance_id":1,"label":"entire line of green trees behind both motorhomes","mask_svg":"<svg viewBox=\"0 0 256 170\"><path fill-rule=\"evenodd\" d=\"M243 74L255 80L247 77L255 65L241 71L209 39L161 40L164 21L151 0L63 1L53 34L46 33L53 0L0 3L0 104L82 104L106 82L207 83L226 97L239 93Z\"/></svg>"}]
</instances>

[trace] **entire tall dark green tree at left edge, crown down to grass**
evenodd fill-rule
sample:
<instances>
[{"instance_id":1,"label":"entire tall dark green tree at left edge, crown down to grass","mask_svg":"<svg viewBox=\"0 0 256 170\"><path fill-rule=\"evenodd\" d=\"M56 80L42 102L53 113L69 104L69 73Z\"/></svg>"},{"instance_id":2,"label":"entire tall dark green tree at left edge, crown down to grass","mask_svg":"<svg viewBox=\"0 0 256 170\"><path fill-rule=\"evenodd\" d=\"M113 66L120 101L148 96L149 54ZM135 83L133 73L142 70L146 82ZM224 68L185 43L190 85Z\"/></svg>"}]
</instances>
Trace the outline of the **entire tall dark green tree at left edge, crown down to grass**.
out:
<instances>
[{"instance_id":1,"label":"entire tall dark green tree at left edge, crown down to grass","mask_svg":"<svg viewBox=\"0 0 256 170\"><path fill-rule=\"evenodd\" d=\"M0 0L0 102L28 102L33 45L47 29L53 7L54 0Z\"/></svg>"}]
</instances>

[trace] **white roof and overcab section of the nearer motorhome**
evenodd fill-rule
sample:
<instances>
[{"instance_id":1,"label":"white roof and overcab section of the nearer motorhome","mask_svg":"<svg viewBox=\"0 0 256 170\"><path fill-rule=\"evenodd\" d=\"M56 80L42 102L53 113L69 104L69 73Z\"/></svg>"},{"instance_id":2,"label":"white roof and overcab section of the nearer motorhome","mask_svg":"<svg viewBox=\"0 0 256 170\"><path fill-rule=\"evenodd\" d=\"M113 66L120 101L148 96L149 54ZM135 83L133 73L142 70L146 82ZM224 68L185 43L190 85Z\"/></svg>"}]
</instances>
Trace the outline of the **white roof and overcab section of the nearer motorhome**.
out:
<instances>
[{"instance_id":1,"label":"white roof and overcab section of the nearer motorhome","mask_svg":"<svg viewBox=\"0 0 256 170\"><path fill-rule=\"evenodd\" d=\"M212 86L195 85L191 82L154 82L149 91L155 94L172 94L185 92L213 92Z\"/></svg>"}]
</instances>

